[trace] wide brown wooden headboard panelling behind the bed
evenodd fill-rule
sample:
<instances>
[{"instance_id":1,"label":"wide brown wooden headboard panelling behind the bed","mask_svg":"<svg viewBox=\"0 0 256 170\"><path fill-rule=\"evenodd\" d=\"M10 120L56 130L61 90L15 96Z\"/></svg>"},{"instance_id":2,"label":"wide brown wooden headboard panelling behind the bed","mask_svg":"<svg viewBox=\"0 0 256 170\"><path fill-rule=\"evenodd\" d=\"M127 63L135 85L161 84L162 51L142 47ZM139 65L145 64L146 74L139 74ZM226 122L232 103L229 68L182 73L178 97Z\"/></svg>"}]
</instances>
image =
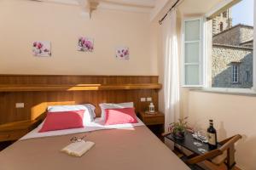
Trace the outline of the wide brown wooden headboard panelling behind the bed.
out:
<instances>
[{"instance_id":1,"label":"wide brown wooden headboard panelling behind the bed","mask_svg":"<svg viewBox=\"0 0 256 170\"><path fill-rule=\"evenodd\" d=\"M100 116L102 102L133 101L137 111L145 111L149 102L140 99L151 97L158 109L160 87L156 76L0 75L0 124L34 120L49 105L90 103Z\"/></svg>"}]
</instances>

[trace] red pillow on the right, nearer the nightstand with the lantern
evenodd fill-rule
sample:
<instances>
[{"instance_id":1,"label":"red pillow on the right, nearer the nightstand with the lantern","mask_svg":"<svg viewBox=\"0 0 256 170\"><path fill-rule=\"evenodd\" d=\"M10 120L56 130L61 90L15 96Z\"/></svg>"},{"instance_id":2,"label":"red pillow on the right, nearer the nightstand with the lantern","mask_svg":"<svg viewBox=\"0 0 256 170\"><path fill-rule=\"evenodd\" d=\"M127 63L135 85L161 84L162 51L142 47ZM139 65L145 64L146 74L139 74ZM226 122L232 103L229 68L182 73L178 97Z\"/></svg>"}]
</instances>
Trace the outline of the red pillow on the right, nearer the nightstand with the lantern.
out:
<instances>
[{"instance_id":1,"label":"red pillow on the right, nearer the nightstand with the lantern","mask_svg":"<svg viewBox=\"0 0 256 170\"><path fill-rule=\"evenodd\" d=\"M137 117L134 108L106 109L105 125L136 123Z\"/></svg>"}]
</instances>

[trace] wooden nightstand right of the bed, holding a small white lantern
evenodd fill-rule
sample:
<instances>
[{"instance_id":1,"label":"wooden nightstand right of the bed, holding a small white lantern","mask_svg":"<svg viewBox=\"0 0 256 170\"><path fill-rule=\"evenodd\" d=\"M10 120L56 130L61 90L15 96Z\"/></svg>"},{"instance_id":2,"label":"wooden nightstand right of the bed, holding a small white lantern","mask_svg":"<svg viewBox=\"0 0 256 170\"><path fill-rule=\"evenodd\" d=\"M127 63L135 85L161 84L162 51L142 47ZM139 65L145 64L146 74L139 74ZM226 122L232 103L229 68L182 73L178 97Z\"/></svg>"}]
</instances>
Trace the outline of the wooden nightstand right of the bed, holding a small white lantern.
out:
<instances>
[{"instance_id":1,"label":"wooden nightstand right of the bed, holding a small white lantern","mask_svg":"<svg viewBox=\"0 0 256 170\"><path fill-rule=\"evenodd\" d=\"M159 139L164 139L161 136L165 125L165 115L163 113L156 111L154 114L148 114L145 111L140 111L138 116Z\"/></svg>"}]
</instances>

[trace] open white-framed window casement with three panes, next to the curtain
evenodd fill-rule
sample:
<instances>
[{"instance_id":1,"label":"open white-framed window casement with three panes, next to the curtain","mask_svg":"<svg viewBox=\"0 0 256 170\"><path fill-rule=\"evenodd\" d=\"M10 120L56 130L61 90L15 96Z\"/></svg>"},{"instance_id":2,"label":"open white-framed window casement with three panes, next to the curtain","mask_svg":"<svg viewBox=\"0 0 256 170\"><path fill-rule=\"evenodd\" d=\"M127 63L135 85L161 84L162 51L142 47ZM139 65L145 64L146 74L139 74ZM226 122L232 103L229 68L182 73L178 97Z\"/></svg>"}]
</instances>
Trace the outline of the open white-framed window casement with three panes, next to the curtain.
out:
<instances>
[{"instance_id":1,"label":"open white-framed window casement with three panes, next to the curtain","mask_svg":"<svg viewBox=\"0 0 256 170\"><path fill-rule=\"evenodd\" d=\"M183 22L183 85L203 84L201 19Z\"/></svg>"}]
</instances>

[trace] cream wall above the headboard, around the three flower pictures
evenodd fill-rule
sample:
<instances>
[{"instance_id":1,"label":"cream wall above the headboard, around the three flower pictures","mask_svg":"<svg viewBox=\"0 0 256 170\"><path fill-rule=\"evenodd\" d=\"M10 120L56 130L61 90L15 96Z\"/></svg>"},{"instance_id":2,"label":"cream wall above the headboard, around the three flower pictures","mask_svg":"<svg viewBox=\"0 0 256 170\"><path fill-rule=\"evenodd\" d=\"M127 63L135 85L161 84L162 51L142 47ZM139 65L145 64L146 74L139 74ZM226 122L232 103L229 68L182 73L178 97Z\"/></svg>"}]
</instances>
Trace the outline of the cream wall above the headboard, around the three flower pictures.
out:
<instances>
[{"instance_id":1,"label":"cream wall above the headboard, around the three flower pictures","mask_svg":"<svg viewBox=\"0 0 256 170\"><path fill-rule=\"evenodd\" d=\"M157 75L149 14L98 9L91 20L77 6L0 1L0 74ZM79 36L95 40L93 53L77 51ZM52 56L32 55L33 41L51 41ZM130 48L129 61L115 48Z\"/></svg>"}]
</instances>

